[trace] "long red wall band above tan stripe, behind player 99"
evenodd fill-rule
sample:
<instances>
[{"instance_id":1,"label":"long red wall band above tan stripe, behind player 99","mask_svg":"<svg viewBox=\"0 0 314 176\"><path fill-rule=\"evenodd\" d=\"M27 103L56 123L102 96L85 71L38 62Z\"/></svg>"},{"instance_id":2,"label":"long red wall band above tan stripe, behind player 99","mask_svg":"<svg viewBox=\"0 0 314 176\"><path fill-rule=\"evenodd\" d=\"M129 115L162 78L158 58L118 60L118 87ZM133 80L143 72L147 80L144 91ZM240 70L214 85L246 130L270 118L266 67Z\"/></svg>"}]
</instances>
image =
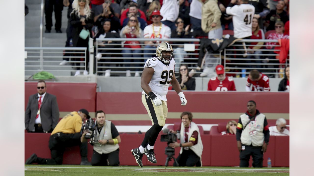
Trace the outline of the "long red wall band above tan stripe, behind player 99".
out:
<instances>
[{"instance_id":1,"label":"long red wall band above tan stripe, behind player 99","mask_svg":"<svg viewBox=\"0 0 314 176\"><path fill-rule=\"evenodd\" d=\"M262 113L289 113L287 92L190 92L185 91L187 105L175 91L167 94L168 112L237 112L246 111L246 103L254 100ZM132 105L130 105L132 102ZM97 92L96 109L106 114L146 114L140 92Z\"/></svg>"}]
</instances>

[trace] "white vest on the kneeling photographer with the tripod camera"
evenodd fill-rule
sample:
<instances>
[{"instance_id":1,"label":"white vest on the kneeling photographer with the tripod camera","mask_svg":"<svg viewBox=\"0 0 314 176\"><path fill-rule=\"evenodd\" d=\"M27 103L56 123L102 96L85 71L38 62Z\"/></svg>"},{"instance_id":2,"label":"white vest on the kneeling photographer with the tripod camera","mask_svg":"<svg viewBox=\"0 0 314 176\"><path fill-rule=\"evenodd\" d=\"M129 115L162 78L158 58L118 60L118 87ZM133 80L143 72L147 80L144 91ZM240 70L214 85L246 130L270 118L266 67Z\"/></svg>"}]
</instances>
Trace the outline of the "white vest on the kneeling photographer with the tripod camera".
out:
<instances>
[{"instance_id":1,"label":"white vest on the kneeling photographer with the tripod camera","mask_svg":"<svg viewBox=\"0 0 314 176\"><path fill-rule=\"evenodd\" d=\"M191 122L191 129L189 131L189 134L187 136L187 142L190 141L190 137L192 136L192 133L194 131L197 131L198 132L198 142L197 144L193 145L193 146L190 146L189 148L197 155L201 158L201 163L202 163L202 152L203 152L203 143L202 143L202 139L201 139L201 134L199 133L199 129L198 129L198 126L194 123L194 122ZM185 143L184 141L184 125L183 123L181 122L181 130L180 130L180 143ZM183 152L183 147L181 147L181 150L180 150L180 154Z\"/></svg>"}]
</instances>

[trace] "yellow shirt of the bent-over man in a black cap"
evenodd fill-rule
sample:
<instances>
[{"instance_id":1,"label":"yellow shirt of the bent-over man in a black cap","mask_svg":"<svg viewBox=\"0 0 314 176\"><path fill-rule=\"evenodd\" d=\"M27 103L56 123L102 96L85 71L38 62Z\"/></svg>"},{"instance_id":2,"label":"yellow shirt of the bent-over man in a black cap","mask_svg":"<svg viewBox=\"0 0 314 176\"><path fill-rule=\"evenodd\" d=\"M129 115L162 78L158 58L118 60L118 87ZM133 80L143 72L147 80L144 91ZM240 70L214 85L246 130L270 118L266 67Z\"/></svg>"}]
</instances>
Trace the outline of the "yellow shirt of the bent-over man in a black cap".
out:
<instances>
[{"instance_id":1,"label":"yellow shirt of the bent-over man in a black cap","mask_svg":"<svg viewBox=\"0 0 314 176\"><path fill-rule=\"evenodd\" d=\"M78 112L73 111L64 116L57 124L55 129L51 132L51 135L62 132L62 133L78 133L81 131L82 117L78 115Z\"/></svg>"}]
</instances>

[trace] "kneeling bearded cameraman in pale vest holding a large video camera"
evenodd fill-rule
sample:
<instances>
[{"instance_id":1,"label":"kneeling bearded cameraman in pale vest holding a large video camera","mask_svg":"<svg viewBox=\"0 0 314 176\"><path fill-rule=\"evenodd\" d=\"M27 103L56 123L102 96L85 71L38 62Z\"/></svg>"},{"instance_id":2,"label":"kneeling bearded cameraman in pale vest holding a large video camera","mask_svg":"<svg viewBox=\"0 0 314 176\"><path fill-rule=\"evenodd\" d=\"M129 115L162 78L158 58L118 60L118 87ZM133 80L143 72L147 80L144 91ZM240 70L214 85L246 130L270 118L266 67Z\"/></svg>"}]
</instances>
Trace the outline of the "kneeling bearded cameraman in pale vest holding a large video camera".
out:
<instances>
[{"instance_id":1,"label":"kneeling bearded cameraman in pale vest holding a large video camera","mask_svg":"<svg viewBox=\"0 0 314 176\"><path fill-rule=\"evenodd\" d=\"M85 135L90 132L84 131L81 142L86 141ZM119 144L121 138L118 130L111 121L106 120L104 111L96 111L95 138L90 142L94 146L92 165L93 166L118 166L119 161Z\"/></svg>"}]
</instances>

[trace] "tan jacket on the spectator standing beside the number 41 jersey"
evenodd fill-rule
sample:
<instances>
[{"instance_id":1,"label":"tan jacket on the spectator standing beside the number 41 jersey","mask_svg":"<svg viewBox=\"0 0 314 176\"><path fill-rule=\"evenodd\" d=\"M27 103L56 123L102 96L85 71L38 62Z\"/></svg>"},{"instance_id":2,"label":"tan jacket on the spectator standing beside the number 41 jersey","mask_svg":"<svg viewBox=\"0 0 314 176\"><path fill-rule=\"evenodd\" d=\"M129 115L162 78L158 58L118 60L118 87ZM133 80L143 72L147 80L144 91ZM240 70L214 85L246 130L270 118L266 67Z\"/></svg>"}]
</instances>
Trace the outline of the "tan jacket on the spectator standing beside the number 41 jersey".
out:
<instances>
[{"instance_id":1,"label":"tan jacket on the spectator standing beside the number 41 jersey","mask_svg":"<svg viewBox=\"0 0 314 176\"><path fill-rule=\"evenodd\" d=\"M199 0L201 1L201 0ZM201 1L202 2L202 1ZM211 30L221 28L220 23L221 11L218 7L217 0L206 0L202 6L202 29L205 33ZM216 23L216 27L212 28L212 23Z\"/></svg>"}]
</instances>

